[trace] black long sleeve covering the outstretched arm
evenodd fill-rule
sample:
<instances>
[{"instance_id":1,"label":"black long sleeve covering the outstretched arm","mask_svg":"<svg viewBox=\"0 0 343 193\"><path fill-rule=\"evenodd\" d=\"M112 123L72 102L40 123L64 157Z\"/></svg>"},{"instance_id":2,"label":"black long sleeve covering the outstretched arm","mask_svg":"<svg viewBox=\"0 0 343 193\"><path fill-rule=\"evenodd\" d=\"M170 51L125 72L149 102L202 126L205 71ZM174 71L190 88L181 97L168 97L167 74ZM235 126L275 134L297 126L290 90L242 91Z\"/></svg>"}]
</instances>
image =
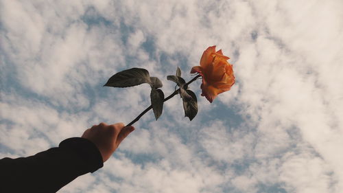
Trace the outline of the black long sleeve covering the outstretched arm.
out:
<instances>
[{"instance_id":1,"label":"black long sleeve covering the outstretched arm","mask_svg":"<svg viewBox=\"0 0 343 193\"><path fill-rule=\"evenodd\" d=\"M57 192L73 179L104 166L88 139L65 139L58 148L30 157L0 159L0 192Z\"/></svg>"}]
</instances>

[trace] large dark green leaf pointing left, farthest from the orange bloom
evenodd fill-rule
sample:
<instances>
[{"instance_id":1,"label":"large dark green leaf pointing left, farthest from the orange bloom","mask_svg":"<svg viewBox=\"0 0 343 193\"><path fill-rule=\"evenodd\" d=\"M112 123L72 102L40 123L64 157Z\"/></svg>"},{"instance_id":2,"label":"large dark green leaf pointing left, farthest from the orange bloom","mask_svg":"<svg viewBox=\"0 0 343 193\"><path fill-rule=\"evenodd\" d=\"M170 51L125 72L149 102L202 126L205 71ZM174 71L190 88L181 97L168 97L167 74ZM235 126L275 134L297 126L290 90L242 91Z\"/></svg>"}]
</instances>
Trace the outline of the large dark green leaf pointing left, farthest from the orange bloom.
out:
<instances>
[{"instance_id":1,"label":"large dark green leaf pointing left, farthest from the orange bloom","mask_svg":"<svg viewBox=\"0 0 343 193\"><path fill-rule=\"evenodd\" d=\"M104 87L133 87L143 83L150 84L150 82L149 71L146 69L132 68L119 71L113 75L108 79Z\"/></svg>"}]
</instances>

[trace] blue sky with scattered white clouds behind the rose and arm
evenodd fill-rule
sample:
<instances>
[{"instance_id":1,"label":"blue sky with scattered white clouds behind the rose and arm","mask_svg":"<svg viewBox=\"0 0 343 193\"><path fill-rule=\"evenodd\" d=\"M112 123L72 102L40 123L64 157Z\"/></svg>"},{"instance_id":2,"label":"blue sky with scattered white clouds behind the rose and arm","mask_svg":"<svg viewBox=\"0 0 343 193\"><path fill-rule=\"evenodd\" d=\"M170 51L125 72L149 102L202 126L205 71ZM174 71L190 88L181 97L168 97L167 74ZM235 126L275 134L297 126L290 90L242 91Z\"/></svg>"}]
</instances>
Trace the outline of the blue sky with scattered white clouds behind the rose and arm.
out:
<instances>
[{"instance_id":1,"label":"blue sky with scattered white clouds behind the rose and arm","mask_svg":"<svg viewBox=\"0 0 343 193\"><path fill-rule=\"evenodd\" d=\"M0 158L100 122L128 124L150 86L102 87L132 67L174 91L217 45L236 83L198 115L152 111L104 167L59 192L343 192L343 1L0 0Z\"/></svg>"}]
</instances>

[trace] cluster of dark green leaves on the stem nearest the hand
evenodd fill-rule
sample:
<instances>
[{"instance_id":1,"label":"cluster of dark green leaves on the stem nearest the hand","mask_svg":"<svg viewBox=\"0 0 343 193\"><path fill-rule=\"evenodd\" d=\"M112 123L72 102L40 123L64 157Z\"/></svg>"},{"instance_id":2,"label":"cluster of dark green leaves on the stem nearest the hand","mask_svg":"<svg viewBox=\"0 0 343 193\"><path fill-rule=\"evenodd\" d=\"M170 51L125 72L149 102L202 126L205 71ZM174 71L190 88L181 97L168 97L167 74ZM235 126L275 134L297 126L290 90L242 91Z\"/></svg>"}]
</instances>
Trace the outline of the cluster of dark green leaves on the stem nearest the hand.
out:
<instances>
[{"instance_id":1,"label":"cluster of dark green leaves on the stem nearest the hand","mask_svg":"<svg viewBox=\"0 0 343 193\"><path fill-rule=\"evenodd\" d=\"M163 111L163 100L165 95L161 88L163 86L161 80L157 77L150 77L149 71L141 68L132 68L115 73L104 85L104 87L134 87L139 84L147 83L152 88L150 92L150 100L152 110L156 120L161 116Z\"/></svg>"}]
</instances>

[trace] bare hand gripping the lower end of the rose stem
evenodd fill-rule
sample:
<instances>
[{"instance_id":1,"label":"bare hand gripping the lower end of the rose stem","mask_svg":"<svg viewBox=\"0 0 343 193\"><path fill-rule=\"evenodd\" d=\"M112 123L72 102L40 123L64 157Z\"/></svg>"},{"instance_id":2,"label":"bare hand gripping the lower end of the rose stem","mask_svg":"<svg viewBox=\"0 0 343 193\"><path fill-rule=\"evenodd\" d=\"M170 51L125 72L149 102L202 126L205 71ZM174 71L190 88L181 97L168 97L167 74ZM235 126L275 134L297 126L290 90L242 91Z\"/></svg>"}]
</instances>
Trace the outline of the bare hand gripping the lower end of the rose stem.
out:
<instances>
[{"instance_id":1,"label":"bare hand gripping the lower end of the rose stem","mask_svg":"<svg viewBox=\"0 0 343 193\"><path fill-rule=\"evenodd\" d=\"M102 154L102 161L105 162L133 130L133 126L124 127L123 123L111 125L100 123L85 130L82 138L89 139L97 146Z\"/></svg>"}]
</instances>

